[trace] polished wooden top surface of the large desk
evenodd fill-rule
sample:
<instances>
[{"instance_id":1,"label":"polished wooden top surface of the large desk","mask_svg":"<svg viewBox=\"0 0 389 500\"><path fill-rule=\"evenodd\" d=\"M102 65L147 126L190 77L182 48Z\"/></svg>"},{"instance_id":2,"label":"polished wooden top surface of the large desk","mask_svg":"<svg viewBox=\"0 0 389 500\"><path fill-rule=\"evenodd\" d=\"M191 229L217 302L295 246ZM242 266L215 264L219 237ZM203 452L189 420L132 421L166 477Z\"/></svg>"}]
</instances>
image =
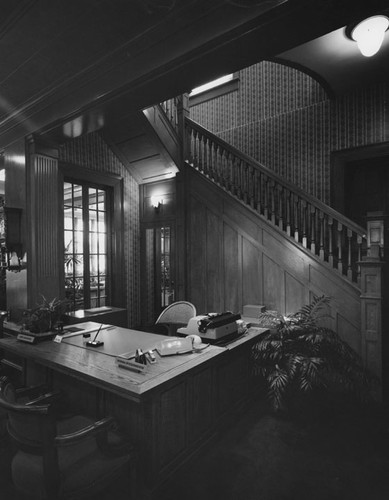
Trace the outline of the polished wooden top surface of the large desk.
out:
<instances>
[{"instance_id":1,"label":"polished wooden top surface of the large desk","mask_svg":"<svg viewBox=\"0 0 389 500\"><path fill-rule=\"evenodd\" d=\"M135 352L138 348L144 351L154 349L166 337L103 325L98 335L98 339L104 342L103 346L87 347L85 342L89 339L85 339L83 333L89 332L90 339L93 340L99 326L100 323L91 321L71 325L64 329L61 342L45 340L28 344L16 338L0 339L0 347L124 397L139 400L142 395L161 384L223 355L265 331L260 328L250 329L244 337L235 340L228 347L210 345L200 352L164 357L155 352L156 363L147 364L146 369L138 373L119 367L116 356Z\"/></svg>"}]
</instances>

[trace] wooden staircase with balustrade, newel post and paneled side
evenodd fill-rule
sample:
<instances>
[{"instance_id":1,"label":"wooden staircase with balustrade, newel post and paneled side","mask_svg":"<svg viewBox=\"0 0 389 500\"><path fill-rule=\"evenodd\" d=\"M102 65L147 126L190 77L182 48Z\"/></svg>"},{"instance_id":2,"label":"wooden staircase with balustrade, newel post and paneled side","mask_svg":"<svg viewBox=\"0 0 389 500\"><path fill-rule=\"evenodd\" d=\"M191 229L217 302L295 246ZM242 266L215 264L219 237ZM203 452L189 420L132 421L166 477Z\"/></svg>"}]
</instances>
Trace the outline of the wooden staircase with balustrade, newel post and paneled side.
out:
<instances>
[{"instance_id":1,"label":"wooden staircase with balustrade, newel post and paneled side","mask_svg":"<svg viewBox=\"0 0 389 500\"><path fill-rule=\"evenodd\" d=\"M375 280L380 272L376 246L376 262L372 267L367 263L373 250L370 233L191 120L180 98L158 108L168 116L172 133L183 144L180 170L190 186L186 198L195 199L187 221L192 228L188 236L188 258L194 268L189 269L189 273L193 272L191 300L205 300L207 292L204 294L203 289L209 281L222 281L219 288L224 291L233 290L235 285L243 289L231 297L224 292L224 301L216 299L213 303L211 299L215 310L241 310L243 304L263 303L268 309L289 313L309 302L313 295L331 296L334 305L329 312L329 326L380 373L382 292L380 284L379 290L375 288L378 293L372 293L370 287L371 273L376 273ZM205 216L209 223L201 221ZM215 237L207 225L216 228ZM204 237L203 226L208 231ZM198 238L202 238L200 243ZM218 247L220 240L225 247L212 248ZM193 252L192 246L197 248ZM235 247L237 250L231 250ZM201 262L207 258L208 267ZM261 269L256 259L262 263ZM195 275L204 267L205 275L199 280ZM261 296L247 298L245 288L254 290L255 286L262 287ZM217 287L208 295L217 297ZM272 291L277 287L279 290ZM204 304L207 309L208 302ZM378 318L376 322L373 317Z\"/></svg>"}]
</instances>

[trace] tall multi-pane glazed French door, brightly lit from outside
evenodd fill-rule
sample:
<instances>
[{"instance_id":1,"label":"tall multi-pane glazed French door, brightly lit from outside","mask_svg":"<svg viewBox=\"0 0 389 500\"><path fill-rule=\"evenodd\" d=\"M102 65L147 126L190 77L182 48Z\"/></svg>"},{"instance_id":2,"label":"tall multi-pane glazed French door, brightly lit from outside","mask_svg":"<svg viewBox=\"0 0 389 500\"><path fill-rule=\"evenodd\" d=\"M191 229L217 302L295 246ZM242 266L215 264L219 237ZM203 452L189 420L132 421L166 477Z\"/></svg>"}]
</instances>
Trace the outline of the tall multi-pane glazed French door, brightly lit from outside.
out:
<instances>
[{"instance_id":1,"label":"tall multi-pane glazed French door, brightly lit from outside","mask_svg":"<svg viewBox=\"0 0 389 500\"><path fill-rule=\"evenodd\" d=\"M72 308L110 304L109 190L64 182L65 295Z\"/></svg>"}]
</instances>

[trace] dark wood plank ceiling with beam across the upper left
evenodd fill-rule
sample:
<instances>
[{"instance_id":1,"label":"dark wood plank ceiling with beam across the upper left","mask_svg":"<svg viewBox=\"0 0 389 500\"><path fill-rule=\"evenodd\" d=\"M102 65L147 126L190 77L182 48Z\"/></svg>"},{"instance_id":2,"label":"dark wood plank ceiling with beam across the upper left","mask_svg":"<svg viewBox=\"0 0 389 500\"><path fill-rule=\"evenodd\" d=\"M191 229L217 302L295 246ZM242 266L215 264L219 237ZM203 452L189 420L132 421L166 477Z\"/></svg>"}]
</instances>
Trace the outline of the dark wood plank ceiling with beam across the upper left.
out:
<instances>
[{"instance_id":1,"label":"dark wood plank ceiling with beam across the upper left","mask_svg":"<svg viewBox=\"0 0 389 500\"><path fill-rule=\"evenodd\" d=\"M64 140L72 126L123 121L386 3L0 0L0 150L33 132Z\"/></svg>"}]
</instances>

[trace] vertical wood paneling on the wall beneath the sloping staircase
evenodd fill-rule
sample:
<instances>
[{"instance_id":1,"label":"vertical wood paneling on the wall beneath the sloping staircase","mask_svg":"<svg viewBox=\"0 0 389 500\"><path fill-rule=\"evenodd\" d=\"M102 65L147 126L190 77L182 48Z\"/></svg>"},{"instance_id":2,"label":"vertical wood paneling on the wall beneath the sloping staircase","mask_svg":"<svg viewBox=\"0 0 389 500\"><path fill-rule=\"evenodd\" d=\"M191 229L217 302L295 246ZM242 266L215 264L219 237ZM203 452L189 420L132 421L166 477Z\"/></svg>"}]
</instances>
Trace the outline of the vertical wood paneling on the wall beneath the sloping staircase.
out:
<instances>
[{"instance_id":1,"label":"vertical wood paneling on the wall beneath the sloping staircase","mask_svg":"<svg viewBox=\"0 0 389 500\"><path fill-rule=\"evenodd\" d=\"M197 310L217 311L219 306L224 305L224 309L241 312L243 305L256 303L286 314L310 303L315 296L328 295L331 298L329 315L332 319L327 326L338 329L341 335L343 330L343 335L360 351L359 288L347 282L326 262L310 255L293 238L285 237L254 210L211 186L190 167L187 169L186 175L191 177L188 183L190 226L187 233L189 290ZM204 226L207 217L212 224ZM214 240L215 228L221 228L220 243ZM216 280L219 276L223 287L218 289L213 284L212 292L208 293L208 259L219 252L223 256L223 267L221 271L213 270L212 279ZM239 289L241 292L237 291ZM216 291L219 291L220 297L215 296ZM210 303L212 297L214 302ZM337 322L339 312L342 320Z\"/></svg>"}]
</instances>

